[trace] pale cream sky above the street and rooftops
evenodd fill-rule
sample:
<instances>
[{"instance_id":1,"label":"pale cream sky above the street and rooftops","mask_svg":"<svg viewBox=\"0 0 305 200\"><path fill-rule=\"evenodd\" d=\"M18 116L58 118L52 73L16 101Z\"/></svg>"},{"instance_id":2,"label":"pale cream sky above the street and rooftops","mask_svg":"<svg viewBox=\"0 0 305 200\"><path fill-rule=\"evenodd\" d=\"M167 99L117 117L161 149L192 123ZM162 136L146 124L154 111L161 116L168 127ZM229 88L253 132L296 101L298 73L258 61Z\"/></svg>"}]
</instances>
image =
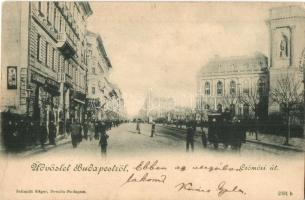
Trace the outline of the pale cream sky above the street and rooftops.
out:
<instances>
[{"instance_id":1,"label":"pale cream sky above the street and rooftops","mask_svg":"<svg viewBox=\"0 0 305 200\"><path fill-rule=\"evenodd\" d=\"M207 61L250 55L269 57L267 3L91 2L87 28L99 33L127 113L136 115L148 90L194 104L196 75Z\"/></svg>"}]
</instances>

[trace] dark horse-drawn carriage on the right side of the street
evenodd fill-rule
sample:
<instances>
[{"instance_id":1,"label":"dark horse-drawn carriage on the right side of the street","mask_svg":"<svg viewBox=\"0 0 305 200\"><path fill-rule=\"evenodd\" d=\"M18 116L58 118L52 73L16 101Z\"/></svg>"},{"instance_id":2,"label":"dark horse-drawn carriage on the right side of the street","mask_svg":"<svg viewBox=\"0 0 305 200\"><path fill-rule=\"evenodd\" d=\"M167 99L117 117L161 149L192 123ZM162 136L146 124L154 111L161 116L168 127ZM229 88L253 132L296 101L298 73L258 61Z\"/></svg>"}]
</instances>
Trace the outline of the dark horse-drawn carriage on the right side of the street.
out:
<instances>
[{"instance_id":1,"label":"dark horse-drawn carriage on the right side of the street","mask_svg":"<svg viewBox=\"0 0 305 200\"><path fill-rule=\"evenodd\" d=\"M240 149L245 142L246 128L240 120L233 118L230 113L209 113L207 140L218 148L222 143L224 148Z\"/></svg>"}]
</instances>

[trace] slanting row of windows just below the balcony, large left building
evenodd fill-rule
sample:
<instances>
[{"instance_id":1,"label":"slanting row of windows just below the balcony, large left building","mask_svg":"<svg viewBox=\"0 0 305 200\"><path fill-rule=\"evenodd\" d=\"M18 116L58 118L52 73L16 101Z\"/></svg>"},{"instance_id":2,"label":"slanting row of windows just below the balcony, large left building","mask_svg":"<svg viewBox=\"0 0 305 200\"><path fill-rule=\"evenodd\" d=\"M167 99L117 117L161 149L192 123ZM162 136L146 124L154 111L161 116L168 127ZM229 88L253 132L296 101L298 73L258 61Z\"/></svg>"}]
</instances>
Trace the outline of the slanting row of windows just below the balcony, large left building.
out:
<instances>
[{"instance_id":1,"label":"slanting row of windows just below the balcony, large left building","mask_svg":"<svg viewBox=\"0 0 305 200\"><path fill-rule=\"evenodd\" d=\"M64 56L60 54L50 43L45 41L41 35L37 34L37 60L44 64L47 68L52 69L54 72L65 72L72 80L85 87L85 73L77 70Z\"/></svg>"}]
</instances>

